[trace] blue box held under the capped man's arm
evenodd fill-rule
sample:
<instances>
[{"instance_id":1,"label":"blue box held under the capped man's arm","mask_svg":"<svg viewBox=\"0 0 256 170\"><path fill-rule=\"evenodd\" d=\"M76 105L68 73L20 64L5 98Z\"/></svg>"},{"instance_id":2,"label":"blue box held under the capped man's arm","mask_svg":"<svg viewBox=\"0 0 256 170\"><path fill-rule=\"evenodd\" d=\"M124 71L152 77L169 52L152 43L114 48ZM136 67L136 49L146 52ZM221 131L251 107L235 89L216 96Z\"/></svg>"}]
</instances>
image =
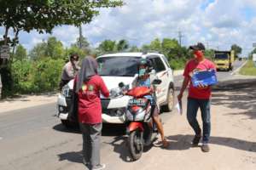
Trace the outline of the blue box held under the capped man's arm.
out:
<instances>
[{"instance_id":1,"label":"blue box held under the capped man's arm","mask_svg":"<svg viewBox=\"0 0 256 170\"><path fill-rule=\"evenodd\" d=\"M200 84L210 86L218 82L215 70L195 71L191 80L194 87L198 87Z\"/></svg>"}]
</instances>

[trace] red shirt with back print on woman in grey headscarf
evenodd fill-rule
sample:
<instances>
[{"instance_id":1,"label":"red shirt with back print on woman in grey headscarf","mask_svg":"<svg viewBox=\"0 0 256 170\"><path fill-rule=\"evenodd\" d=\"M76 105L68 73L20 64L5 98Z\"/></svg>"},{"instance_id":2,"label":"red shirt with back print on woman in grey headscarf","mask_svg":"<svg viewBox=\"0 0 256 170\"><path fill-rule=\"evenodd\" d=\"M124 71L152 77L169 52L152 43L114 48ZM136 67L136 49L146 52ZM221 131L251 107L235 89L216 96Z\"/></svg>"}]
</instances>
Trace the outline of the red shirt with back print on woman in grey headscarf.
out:
<instances>
[{"instance_id":1,"label":"red shirt with back print on woman in grey headscarf","mask_svg":"<svg viewBox=\"0 0 256 170\"><path fill-rule=\"evenodd\" d=\"M76 81L76 80L75 80ZM96 75L84 82L79 91L79 122L96 124L102 122L102 104L100 93L109 96L108 88L102 77Z\"/></svg>"}]
</instances>

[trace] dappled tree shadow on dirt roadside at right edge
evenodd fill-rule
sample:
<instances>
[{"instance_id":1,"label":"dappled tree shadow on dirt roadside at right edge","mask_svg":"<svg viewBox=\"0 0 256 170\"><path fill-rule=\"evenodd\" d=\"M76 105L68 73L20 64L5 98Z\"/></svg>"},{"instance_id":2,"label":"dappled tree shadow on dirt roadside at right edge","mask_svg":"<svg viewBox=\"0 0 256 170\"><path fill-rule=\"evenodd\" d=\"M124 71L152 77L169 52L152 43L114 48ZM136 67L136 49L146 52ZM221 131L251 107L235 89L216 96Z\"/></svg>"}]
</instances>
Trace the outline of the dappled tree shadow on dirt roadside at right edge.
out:
<instances>
[{"instance_id":1,"label":"dappled tree shadow on dirt roadside at right edge","mask_svg":"<svg viewBox=\"0 0 256 170\"><path fill-rule=\"evenodd\" d=\"M256 119L256 79L238 79L220 82L213 88L212 105L224 105L245 111L228 115L245 115Z\"/></svg>"}]
</instances>

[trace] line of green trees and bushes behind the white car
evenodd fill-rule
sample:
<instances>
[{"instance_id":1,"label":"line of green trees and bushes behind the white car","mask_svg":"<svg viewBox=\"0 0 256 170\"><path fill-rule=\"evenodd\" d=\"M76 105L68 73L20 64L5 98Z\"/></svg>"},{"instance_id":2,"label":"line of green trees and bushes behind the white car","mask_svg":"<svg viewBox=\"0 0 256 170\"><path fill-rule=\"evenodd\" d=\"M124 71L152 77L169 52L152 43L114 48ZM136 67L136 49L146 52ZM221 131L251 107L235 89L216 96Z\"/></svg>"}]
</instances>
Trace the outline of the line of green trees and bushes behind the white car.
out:
<instances>
[{"instance_id":1,"label":"line of green trees and bushes behind the white car","mask_svg":"<svg viewBox=\"0 0 256 170\"><path fill-rule=\"evenodd\" d=\"M56 90L61 80L62 67L73 53L79 54L83 59L89 54L96 57L101 54L143 51L158 51L165 54L172 69L183 68L186 60L192 56L188 48L180 46L176 39L171 38L155 38L142 47L131 45L125 39L108 39L101 42L98 47L92 48L90 42L82 37L69 48L65 48L56 37L49 37L46 41L37 43L30 51L22 44L17 45L15 51L11 53L9 66L2 69L2 74L10 77L3 80L7 83L3 95L38 94ZM213 50L207 50L207 55L212 56L212 53Z\"/></svg>"}]
</instances>

